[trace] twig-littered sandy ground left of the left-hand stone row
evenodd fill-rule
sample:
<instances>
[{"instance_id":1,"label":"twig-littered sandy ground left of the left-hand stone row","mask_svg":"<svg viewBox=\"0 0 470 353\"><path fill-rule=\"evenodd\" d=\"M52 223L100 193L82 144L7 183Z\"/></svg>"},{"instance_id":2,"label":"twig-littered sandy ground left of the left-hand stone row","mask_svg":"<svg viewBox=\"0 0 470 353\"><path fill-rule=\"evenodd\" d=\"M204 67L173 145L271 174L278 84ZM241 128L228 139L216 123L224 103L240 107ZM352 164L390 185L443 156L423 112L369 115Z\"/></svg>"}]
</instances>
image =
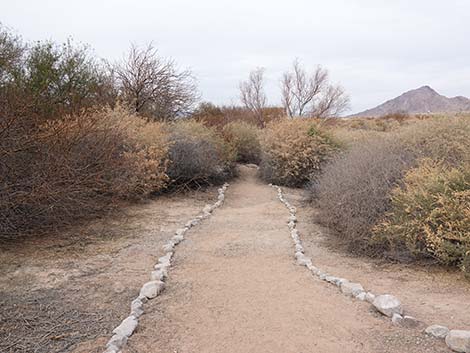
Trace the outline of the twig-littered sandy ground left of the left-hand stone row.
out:
<instances>
[{"instance_id":1,"label":"twig-littered sandy ground left of the left-hand stone row","mask_svg":"<svg viewBox=\"0 0 470 353\"><path fill-rule=\"evenodd\" d=\"M0 242L0 352L102 352L161 246L216 196L160 196L62 234Z\"/></svg>"}]
</instances>

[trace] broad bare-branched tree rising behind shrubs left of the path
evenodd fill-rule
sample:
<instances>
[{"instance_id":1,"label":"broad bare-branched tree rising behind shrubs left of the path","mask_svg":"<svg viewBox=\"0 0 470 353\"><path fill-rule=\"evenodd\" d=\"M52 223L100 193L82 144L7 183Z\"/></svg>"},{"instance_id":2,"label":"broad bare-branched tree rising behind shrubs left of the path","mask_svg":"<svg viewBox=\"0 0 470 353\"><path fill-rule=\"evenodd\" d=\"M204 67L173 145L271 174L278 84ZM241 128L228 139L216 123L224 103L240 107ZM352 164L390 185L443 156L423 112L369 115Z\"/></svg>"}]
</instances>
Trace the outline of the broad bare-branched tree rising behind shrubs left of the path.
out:
<instances>
[{"instance_id":1,"label":"broad bare-branched tree rising behind shrubs left of the path","mask_svg":"<svg viewBox=\"0 0 470 353\"><path fill-rule=\"evenodd\" d=\"M136 113L155 120L172 120L189 114L199 93L190 70L178 71L149 44L131 46L129 54L114 66L120 96Z\"/></svg>"}]
</instances>

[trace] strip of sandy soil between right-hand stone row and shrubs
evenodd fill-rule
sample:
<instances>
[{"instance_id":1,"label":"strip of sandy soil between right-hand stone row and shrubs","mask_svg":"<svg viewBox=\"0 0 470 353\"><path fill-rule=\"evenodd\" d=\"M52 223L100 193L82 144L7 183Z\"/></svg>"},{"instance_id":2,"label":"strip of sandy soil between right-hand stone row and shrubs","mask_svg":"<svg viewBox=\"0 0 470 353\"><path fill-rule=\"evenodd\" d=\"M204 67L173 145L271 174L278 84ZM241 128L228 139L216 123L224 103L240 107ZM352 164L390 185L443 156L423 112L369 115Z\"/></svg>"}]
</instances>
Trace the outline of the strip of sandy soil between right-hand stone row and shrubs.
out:
<instances>
[{"instance_id":1,"label":"strip of sandy soil between right-hand stone row and shrubs","mask_svg":"<svg viewBox=\"0 0 470 353\"><path fill-rule=\"evenodd\" d=\"M286 189L298 208L298 229L307 255L317 266L336 276L360 282L374 293L390 293L410 315L429 324L470 330L470 281L457 270L432 265L392 264L348 254L314 223L315 210L304 201L301 190Z\"/></svg>"}]
</instances>

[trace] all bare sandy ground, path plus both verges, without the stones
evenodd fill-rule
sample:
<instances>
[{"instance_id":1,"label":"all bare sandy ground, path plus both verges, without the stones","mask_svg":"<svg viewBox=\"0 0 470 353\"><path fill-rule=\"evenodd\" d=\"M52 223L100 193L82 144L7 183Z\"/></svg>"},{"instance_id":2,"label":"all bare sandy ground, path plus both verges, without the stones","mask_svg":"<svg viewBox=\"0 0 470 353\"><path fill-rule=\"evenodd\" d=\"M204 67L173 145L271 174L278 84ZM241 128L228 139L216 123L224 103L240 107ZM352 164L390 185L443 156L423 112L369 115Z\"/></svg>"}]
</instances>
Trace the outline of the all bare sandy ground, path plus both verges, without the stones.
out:
<instances>
[{"instance_id":1,"label":"all bare sandy ground, path plus both verges, without the stones","mask_svg":"<svg viewBox=\"0 0 470 353\"><path fill-rule=\"evenodd\" d=\"M2 244L0 351L102 352L161 245L215 196L162 197L84 234ZM470 284L460 275L349 256L312 222L301 191L286 196L317 266L399 296L425 323L470 329ZM288 211L256 169L240 167L225 200L177 247L166 290L146 304L124 353L449 351L297 266Z\"/></svg>"}]
</instances>

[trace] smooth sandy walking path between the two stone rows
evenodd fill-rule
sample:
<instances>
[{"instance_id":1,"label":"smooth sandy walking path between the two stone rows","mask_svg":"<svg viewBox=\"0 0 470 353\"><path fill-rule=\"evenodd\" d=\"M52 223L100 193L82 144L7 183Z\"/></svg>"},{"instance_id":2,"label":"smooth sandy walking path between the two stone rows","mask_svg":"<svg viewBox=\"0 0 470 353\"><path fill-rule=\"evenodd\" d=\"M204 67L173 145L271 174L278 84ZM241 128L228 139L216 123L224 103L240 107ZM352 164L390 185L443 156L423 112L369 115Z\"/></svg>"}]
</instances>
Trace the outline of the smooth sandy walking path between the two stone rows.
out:
<instances>
[{"instance_id":1,"label":"smooth sandy walking path between the two stone rows","mask_svg":"<svg viewBox=\"0 0 470 353\"><path fill-rule=\"evenodd\" d=\"M242 167L225 205L188 233L124 352L446 352L296 266L287 210L255 174Z\"/></svg>"}]
</instances>

